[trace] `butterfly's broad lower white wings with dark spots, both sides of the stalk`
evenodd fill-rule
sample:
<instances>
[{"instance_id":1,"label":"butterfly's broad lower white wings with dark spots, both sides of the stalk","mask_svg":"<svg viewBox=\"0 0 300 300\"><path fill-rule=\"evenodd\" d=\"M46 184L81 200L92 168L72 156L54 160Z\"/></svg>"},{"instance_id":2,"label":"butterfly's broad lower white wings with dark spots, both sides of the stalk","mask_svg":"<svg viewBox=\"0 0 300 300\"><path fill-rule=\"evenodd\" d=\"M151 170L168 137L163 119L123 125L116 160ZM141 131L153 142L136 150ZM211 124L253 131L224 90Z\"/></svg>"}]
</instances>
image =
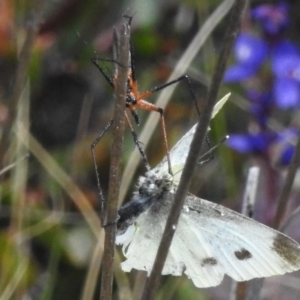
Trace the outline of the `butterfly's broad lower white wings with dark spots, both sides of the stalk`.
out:
<instances>
[{"instance_id":1,"label":"butterfly's broad lower white wings with dark spots, both sides of the stalk","mask_svg":"<svg viewBox=\"0 0 300 300\"><path fill-rule=\"evenodd\" d=\"M172 194L169 194L172 195ZM173 196L172 196L173 197ZM189 208L188 208L189 207ZM122 269L150 273L168 210L151 208L137 220L124 244ZM300 268L300 246L291 238L223 206L188 196L163 274L183 272L197 287L216 286L224 274L237 281L268 277Z\"/></svg>"}]
</instances>

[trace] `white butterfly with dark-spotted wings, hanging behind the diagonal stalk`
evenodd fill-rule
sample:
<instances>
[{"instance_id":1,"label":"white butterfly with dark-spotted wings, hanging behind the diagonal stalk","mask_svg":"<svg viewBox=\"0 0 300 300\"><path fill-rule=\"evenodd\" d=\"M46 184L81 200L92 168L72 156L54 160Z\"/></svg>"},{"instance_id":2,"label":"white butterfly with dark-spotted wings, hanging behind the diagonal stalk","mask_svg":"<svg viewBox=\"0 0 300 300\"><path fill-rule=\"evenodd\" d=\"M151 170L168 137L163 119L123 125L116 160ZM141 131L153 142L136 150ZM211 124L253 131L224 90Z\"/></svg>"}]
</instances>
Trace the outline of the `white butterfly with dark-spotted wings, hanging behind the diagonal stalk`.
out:
<instances>
[{"instance_id":1,"label":"white butterfly with dark-spotted wings, hanging behind the diagonal stalk","mask_svg":"<svg viewBox=\"0 0 300 300\"><path fill-rule=\"evenodd\" d=\"M220 100L214 115L229 95ZM124 271L152 270L167 216L195 132L192 127L166 158L140 177L131 202L119 210L117 244L123 245ZM185 199L163 275L184 272L197 287L292 272L300 268L300 245L288 236L221 205L189 194Z\"/></svg>"}]
</instances>

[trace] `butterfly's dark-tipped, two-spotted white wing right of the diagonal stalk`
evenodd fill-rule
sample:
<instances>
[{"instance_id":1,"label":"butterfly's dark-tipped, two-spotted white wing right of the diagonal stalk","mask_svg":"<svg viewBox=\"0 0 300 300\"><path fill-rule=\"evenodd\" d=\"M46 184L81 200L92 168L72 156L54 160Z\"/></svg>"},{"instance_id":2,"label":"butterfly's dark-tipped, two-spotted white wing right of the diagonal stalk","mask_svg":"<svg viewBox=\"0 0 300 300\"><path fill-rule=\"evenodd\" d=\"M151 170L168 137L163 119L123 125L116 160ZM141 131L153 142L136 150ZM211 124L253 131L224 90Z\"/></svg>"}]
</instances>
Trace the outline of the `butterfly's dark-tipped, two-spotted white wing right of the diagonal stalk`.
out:
<instances>
[{"instance_id":1,"label":"butterfly's dark-tipped, two-spotted white wing right of the diagonal stalk","mask_svg":"<svg viewBox=\"0 0 300 300\"><path fill-rule=\"evenodd\" d=\"M186 207L177 243L191 254L185 273L196 286L215 286L224 274L245 281L300 268L300 245L279 231L193 195Z\"/></svg>"}]
</instances>

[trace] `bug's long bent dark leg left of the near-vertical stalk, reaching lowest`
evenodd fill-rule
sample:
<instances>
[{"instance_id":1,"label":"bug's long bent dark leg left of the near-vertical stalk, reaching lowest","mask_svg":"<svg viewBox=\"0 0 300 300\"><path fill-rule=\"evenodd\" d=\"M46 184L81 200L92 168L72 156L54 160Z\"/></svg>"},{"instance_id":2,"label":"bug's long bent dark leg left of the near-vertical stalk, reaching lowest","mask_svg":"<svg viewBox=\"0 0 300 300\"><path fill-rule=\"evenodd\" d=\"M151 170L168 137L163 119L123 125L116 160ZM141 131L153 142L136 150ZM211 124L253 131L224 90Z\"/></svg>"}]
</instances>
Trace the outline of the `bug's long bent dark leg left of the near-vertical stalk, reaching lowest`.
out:
<instances>
[{"instance_id":1,"label":"bug's long bent dark leg left of the near-vertical stalk, reaching lowest","mask_svg":"<svg viewBox=\"0 0 300 300\"><path fill-rule=\"evenodd\" d=\"M112 126L113 122L114 122L114 120L110 120L106 124L103 131L98 135L98 137L94 140L94 142L91 145L93 163L94 163L95 174L96 174L96 179L97 179L98 193L99 193L99 197L100 197L100 220L101 220L101 224L103 227L106 225L104 222L105 198L104 198L103 191L102 191L101 184L100 184L100 175L99 175L99 170L98 170L97 161L96 161L95 147L99 143L101 138L104 136L106 131Z\"/></svg>"}]
</instances>

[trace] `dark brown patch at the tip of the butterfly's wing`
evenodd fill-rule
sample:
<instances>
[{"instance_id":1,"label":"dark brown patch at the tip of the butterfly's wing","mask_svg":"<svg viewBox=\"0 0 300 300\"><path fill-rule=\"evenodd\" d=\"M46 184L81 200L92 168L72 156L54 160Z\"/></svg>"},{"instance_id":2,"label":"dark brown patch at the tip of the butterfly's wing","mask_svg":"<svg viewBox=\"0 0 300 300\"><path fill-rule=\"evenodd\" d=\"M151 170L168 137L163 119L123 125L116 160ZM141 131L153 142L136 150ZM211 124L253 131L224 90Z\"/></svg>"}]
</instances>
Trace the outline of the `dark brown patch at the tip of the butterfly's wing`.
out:
<instances>
[{"instance_id":1,"label":"dark brown patch at the tip of the butterfly's wing","mask_svg":"<svg viewBox=\"0 0 300 300\"><path fill-rule=\"evenodd\" d=\"M272 250L291 265L300 265L300 246L291 238L277 234L274 238Z\"/></svg>"}]
</instances>

